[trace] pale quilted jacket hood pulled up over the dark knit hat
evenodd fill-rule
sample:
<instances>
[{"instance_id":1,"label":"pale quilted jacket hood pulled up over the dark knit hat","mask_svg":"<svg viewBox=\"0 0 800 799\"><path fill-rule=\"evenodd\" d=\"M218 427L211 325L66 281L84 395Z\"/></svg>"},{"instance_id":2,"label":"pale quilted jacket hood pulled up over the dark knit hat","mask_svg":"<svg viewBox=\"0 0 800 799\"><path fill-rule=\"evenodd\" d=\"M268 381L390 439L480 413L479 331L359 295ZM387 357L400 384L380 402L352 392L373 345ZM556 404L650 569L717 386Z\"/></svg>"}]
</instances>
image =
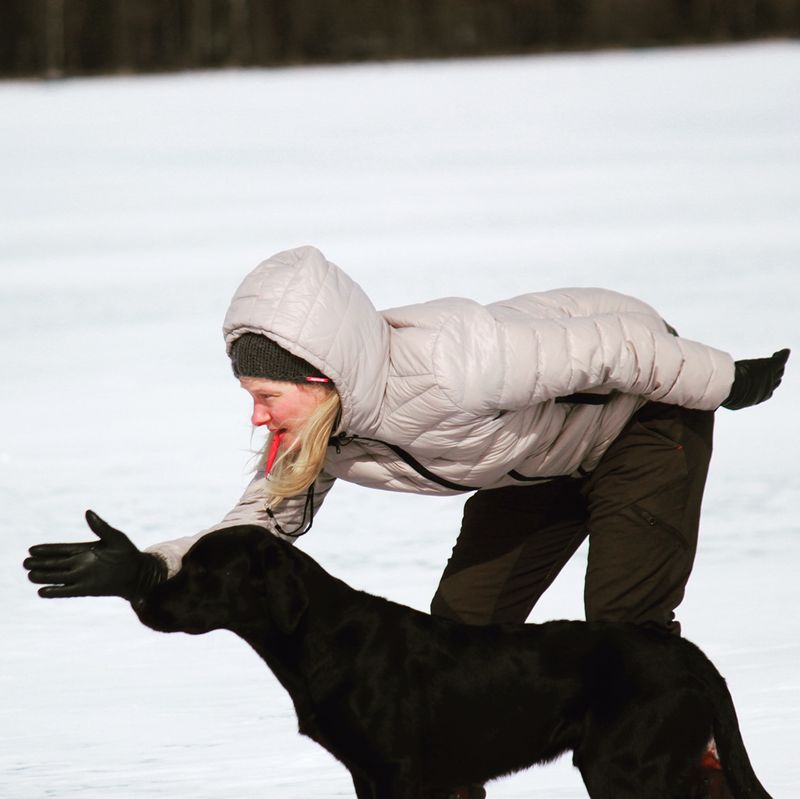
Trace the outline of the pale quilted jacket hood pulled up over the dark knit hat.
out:
<instances>
[{"instance_id":1,"label":"pale quilted jacket hood pulled up over the dark knit hat","mask_svg":"<svg viewBox=\"0 0 800 799\"><path fill-rule=\"evenodd\" d=\"M333 381L342 401L340 431L377 429L389 370L388 324L318 249L278 253L245 277L223 323L228 355L247 332L268 336Z\"/></svg>"}]
</instances>

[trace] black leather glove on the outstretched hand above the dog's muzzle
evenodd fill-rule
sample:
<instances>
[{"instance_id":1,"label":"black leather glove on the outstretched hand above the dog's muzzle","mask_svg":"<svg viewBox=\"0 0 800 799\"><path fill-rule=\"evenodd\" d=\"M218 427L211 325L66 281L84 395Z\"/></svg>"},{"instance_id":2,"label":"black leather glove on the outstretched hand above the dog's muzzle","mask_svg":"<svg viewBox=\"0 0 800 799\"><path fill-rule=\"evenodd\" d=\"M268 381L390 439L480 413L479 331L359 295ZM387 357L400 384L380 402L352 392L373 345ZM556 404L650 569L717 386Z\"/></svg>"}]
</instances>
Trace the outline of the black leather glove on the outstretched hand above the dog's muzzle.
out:
<instances>
[{"instance_id":1,"label":"black leather glove on the outstretched hand above the dog's muzzle","mask_svg":"<svg viewBox=\"0 0 800 799\"><path fill-rule=\"evenodd\" d=\"M39 596L121 596L133 600L167 579L167 566L156 555L140 552L125 533L86 511L89 527L100 539L82 544L37 544L22 564L32 583L45 584Z\"/></svg>"}]
</instances>

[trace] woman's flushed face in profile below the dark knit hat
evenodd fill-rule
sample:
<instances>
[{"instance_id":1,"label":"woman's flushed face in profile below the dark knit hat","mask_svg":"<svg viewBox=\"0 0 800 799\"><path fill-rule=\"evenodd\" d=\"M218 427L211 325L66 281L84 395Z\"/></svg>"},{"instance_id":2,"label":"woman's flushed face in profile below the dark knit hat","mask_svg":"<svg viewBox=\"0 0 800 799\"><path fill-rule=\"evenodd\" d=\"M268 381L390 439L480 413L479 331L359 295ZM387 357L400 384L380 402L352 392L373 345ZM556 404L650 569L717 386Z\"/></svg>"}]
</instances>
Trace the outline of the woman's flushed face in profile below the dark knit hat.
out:
<instances>
[{"instance_id":1,"label":"woman's flushed face in profile below the dark knit hat","mask_svg":"<svg viewBox=\"0 0 800 799\"><path fill-rule=\"evenodd\" d=\"M266 426L271 433L283 432L285 446L294 443L298 429L329 391L322 386L261 377L243 377L239 383L253 398L253 425Z\"/></svg>"}]
</instances>

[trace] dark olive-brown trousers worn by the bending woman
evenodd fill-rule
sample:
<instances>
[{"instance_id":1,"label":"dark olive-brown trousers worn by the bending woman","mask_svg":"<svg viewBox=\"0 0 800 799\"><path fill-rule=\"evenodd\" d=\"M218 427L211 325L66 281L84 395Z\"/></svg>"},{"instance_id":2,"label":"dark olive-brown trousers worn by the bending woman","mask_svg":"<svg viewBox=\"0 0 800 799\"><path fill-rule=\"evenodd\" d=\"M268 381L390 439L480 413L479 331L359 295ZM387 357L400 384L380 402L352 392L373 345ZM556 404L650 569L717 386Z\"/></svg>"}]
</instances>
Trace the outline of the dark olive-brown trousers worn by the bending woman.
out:
<instances>
[{"instance_id":1,"label":"dark olive-brown trousers worn by the bending woman","mask_svg":"<svg viewBox=\"0 0 800 799\"><path fill-rule=\"evenodd\" d=\"M586 619L680 634L713 428L713 412L648 403L587 477L476 492L431 612L524 622L588 536Z\"/></svg>"}]
</instances>

